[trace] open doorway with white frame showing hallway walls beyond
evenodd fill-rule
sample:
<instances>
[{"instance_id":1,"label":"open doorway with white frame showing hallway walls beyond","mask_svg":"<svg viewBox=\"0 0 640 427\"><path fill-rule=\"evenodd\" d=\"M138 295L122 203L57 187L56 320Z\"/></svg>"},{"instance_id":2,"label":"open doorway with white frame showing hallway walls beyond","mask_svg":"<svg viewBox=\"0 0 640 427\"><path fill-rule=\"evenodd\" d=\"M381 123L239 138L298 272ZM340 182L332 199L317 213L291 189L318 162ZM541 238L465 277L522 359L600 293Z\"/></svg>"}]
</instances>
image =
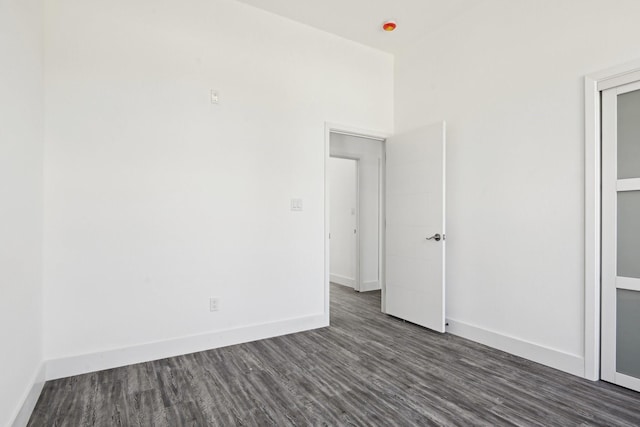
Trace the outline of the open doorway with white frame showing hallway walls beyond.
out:
<instances>
[{"instance_id":1,"label":"open doorway with white frame showing hallway walls beyond","mask_svg":"<svg viewBox=\"0 0 640 427\"><path fill-rule=\"evenodd\" d=\"M326 127L327 323L330 320L330 283L348 286L358 292L384 292L385 137L344 126Z\"/></svg>"}]
</instances>

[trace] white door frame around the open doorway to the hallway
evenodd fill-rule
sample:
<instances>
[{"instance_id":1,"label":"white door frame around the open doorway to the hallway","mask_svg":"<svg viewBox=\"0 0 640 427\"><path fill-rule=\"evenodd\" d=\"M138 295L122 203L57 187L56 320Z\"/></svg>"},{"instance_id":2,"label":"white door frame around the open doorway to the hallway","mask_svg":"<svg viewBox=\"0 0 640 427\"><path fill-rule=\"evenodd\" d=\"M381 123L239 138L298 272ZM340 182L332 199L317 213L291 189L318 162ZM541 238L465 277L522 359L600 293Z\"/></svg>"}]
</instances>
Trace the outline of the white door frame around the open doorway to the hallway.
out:
<instances>
[{"instance_id":1,"label":"white door frame around the open doorway to the hallway","mask_svg":"<svg viewBox=\"0 0 640 427\"><path fill-rule=\"evenodd\" d=\"M380 131L372 131L367 129L360 129L353 126L338 124L338 123L330 123L325 122L324 125L324 320L328 325L330 322L330 313L329 310L331 308L329 290L330 290L330 242L329 242L329 230L330 230L330 219L331 212L329 207L330 194L329 194L329 158L331 157L331 134L339 133L343 135L351 135L357 136L361 138L368 138L373 140L378 140L384 142L390 135L386 132ZM384 158L384 146L383 146L383 158ZM384 292L385 292L385 280L384 280L384 167L380 168L379 179L381 182L380 194L378 195L378 200L380 201L380 228L378 230L379 233L379 241L380 248L378 251L378 269L380 271L380 287L382 288L382 311L384 312ZM359 230L358 230L358 240L359 240Z\"/></svg>"}]
</instances>

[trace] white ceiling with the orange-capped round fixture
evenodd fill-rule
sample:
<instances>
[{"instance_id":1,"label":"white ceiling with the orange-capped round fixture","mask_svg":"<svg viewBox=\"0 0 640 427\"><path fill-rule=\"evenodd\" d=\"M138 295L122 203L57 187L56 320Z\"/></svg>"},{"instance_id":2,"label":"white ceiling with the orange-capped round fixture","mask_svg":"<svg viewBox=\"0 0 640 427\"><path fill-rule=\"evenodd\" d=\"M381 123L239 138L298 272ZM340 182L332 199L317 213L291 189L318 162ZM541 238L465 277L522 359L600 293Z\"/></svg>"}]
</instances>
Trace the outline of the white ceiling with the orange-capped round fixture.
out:
<instances>
[{"instance_id":1,"label":"white ceiling with the orange-capped round fixture","mask_svg":"<svg viewBox=\"0 0 640 427\"><path fill-rule=\"evenodd\" d=\"M445 25L473 0L238 0L389 53ZM382 23L398 28L387 33Z\"/></svg>"}]
</instances>

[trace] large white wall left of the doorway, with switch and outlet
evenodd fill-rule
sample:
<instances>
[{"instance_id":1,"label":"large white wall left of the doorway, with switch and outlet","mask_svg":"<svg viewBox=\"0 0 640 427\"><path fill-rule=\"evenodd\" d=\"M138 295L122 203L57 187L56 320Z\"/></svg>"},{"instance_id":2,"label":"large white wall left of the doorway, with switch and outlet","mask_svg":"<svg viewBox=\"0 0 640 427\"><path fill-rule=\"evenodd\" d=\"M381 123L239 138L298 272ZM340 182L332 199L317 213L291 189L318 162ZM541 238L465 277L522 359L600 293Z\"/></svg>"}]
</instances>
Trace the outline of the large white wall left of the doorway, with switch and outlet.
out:
<instances>
[{"instance_id":1,"label":"large white wall left of the doorway, with switch and outlet","mask_svg":"<svg viewBox=\"0 0 640 427\"><path fill-rule=\"evenodd\" d=\"M55 0L45 36L46 357L321 316L324 123L390 130L392 57L230 0Z\"/></svg>"}]
</instances>

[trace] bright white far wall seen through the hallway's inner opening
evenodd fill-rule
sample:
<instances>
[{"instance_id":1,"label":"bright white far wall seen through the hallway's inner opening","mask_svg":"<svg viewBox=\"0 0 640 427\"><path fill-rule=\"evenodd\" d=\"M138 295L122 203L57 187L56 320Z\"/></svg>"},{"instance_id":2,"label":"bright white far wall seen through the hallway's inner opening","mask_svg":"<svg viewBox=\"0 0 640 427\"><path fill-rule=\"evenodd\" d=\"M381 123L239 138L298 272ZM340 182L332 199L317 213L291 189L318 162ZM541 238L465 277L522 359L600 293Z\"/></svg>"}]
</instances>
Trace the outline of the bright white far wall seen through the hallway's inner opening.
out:
<instances>
[{"instance_id":1,"label":"bright white far wall seen through the hallway's inner opening","mask_svg":"<svg viewBox=\"0 0 640 427\"><path fill-rule=\"evenodd\" d=\"M355 287L356 281L356 209L358 205L355 160L329 158L327 165L330 194L331 281Z\"/></svg>"}]
</instances>

